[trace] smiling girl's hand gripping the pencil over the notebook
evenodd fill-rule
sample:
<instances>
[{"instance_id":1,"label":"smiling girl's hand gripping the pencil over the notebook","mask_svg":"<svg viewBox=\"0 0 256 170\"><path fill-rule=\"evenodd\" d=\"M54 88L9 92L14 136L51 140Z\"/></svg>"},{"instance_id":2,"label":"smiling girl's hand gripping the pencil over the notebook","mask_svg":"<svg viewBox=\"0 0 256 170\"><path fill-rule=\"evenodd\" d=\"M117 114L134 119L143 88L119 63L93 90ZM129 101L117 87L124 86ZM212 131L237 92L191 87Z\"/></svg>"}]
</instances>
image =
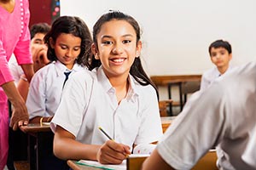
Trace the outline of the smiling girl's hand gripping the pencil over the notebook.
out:
<instances>
[{"instance_id":1,"label":"smiling girl's hand gripping the pencil over the notebook","mask_svg":"<svg viewBox=\"0 0 256 170\"><path fill-rule=\"evenodd\" d=\"M130 147L108 140L97 152L96 159L102 164L120 164L131 154Z\"/></svg>"}]
</instances>

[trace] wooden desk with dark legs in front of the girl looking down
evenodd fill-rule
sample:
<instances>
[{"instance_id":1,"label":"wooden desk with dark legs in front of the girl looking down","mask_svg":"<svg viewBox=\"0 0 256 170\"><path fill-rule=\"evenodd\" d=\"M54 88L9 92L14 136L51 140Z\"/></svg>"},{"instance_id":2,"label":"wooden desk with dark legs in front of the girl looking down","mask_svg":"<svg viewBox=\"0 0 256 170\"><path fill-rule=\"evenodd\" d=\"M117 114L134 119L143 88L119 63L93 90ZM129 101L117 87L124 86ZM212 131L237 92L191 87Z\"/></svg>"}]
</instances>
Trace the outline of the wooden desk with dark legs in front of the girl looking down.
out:
<instances>
[{"instance_id":1,"label":"wooden desk with dark legs in front of the girl looking down","mask_svg":"<svg viewBox=\"0 0 256 170\"><path fill-rule=\"evenodd\" d=\"M42 141L48 138L53 133L50 130L49 125L40 125L39 123L29 123L27 126L21 126L20 130L28 134L28 161L30 169L40 169L42 167L42 154L44 148L42 147ZM32 138L36 139L36 165L33 162L33 150L34 144L32 144ZM52 141L49 141L52 143Z\"/></svg>"}]
</instances>

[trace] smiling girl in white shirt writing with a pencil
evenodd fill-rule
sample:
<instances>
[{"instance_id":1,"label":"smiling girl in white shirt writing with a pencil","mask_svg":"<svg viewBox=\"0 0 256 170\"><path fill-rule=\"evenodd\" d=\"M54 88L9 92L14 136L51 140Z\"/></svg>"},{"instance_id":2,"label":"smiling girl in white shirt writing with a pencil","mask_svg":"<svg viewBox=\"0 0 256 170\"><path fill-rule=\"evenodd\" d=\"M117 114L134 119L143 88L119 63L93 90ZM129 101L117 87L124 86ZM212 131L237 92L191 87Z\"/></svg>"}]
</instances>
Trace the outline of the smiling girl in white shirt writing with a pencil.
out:
<instances>
[{"instance_id":1,"label":"smiling girl in white shirt writing with a pencil","mask_svg":"<svg viewBox=\"0 0 256 170\"><path fill-rule=\"evenodd\" d=\"M119 164L135 145L160 139L157 90L143 70L140 28L131 16L103 14L93 27L93 41L92 71L80 71L67 82L50 124L54 153Z\"/></svg>"}]
</instances>

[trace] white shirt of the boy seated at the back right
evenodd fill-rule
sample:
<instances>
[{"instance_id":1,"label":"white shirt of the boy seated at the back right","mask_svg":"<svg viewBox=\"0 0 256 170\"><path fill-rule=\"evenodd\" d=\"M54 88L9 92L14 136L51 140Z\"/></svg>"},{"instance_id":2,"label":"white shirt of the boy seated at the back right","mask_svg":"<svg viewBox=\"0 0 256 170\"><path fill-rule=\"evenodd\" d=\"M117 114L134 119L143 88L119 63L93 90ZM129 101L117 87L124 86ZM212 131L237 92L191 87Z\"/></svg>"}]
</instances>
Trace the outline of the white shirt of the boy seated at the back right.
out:
<instances>
[{"instance_id":1,"label":"white shirt of the boy seated at the back right","mask_svg":"<svg viewBox=\"0 0 256 170\"><path fill-rule=\"evenodd\" d=\"M226 74L227 72L229 72L230 70L232 70L232 67L229 66L228 70L224 72L224 74ZM223 74L223 75L224 75ZM221 76L221 73L218 71L218 68L215 66L212 69L206 71L203 73L202 77L201 77L201 86L200 89L204 90L206 88L209 87L209 85L218 77Z\"/></svg>"}]
</instances>

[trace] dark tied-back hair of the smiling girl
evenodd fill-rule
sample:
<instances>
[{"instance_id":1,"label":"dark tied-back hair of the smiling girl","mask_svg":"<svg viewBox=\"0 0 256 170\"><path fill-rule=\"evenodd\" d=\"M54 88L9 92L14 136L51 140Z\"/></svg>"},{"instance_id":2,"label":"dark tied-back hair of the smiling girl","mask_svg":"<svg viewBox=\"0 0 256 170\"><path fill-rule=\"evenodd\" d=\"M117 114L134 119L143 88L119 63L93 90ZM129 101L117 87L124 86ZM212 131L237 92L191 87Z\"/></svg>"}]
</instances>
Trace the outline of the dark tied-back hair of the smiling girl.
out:
<instances>
[{"instance_id":1,"label":"dark tied-back hair of the smiling girl","mask_svg":"<svg viewBox=\"0 0 256 170\"><path fill-rule=\"evenodd\" d=\"M93 35L93 42L95 43L96 48L97 48L96 36L101 31L102 25L110 20L125 20L126 22L131 24L131 26L136 31L137 42L141 39L140 26L138 25L137 21L134 18L132 18L130 15L124 14L119 11L109 11L107 14L103 14L100 17L100 19L96 21L96 24L93 26L92 35ZM95 59L94 57L92 57L89 69L92 70L95 67L99 67L100 65L102 65L101 60ZM154 87L157 96L159 97L158 89L154 85L154 82L151 81L151 79L148 77L148 75L144 71L140 57L135 58L133 64L131 65L130 74L132 77L135 78L135 80L138 83L140 83L143 86L147 86L148 84L151 84Z\"/></svg>"}]
</instances>

